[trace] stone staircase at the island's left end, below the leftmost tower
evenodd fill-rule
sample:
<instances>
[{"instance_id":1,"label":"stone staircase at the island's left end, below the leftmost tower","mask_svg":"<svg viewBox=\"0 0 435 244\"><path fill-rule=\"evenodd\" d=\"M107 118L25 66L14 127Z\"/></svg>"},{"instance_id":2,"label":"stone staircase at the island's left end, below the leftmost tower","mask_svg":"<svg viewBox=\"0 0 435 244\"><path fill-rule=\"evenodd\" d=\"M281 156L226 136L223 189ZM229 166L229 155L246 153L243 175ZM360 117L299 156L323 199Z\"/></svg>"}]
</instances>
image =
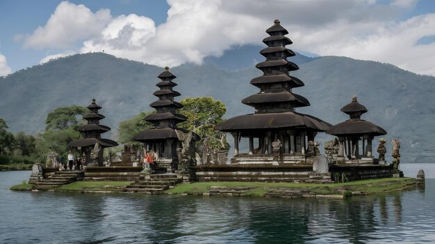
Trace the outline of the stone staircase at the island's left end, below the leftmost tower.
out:
<instances>
[{"instance_id":1,"label":"stone staircase at the island's left end, below the leftmost tower","mask_svg":"<svg viewBox=\"0 0 435 244\"><path fill-rule=\"evenodd\" d=\"M83 180L81 171L56 171L38 182L29 182L33 184L35 190L48 190L65 184L70 184L78 180Z\"/></svg>"}]
</instances>

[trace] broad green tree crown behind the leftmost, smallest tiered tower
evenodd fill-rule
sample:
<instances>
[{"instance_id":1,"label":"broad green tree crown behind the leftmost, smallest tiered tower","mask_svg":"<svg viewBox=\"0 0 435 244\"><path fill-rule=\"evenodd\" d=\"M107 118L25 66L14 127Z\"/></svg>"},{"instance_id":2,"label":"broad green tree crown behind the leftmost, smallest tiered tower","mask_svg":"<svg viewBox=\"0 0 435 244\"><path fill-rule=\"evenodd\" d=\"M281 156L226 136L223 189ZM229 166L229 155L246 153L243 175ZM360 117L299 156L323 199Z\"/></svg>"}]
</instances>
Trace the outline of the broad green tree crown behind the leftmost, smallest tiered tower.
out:
<instances>
[{"instance_id":1,"label":"broad green tree crown behind the leftmost, smallest tiered tower","mask_svg":"<svg viewBox=\"0 0 435 244\"><path fill-rule=\"evenodd\" d=\"M77 105L58 107L47 115L45 131L75 129L84 123L82 116L88 112L88 108Z\"/></svg>"}]
</instances>

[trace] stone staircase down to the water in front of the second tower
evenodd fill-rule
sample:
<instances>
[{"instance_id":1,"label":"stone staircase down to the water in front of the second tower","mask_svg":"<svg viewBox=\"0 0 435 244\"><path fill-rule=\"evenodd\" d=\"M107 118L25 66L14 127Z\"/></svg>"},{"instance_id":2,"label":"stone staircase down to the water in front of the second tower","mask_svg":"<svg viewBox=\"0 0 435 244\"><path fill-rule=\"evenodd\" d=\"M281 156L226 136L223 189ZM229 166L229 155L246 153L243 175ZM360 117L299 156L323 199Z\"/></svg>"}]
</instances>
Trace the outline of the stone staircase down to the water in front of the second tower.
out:
<instances>
[{"instance_id":1,"label":"stone staircase down to the water in front of the second tower","mask_svg":"<svg viewBox=\"0 0 435 244\"><path fill-rule=\"evenodd\" d=\"M161 194L181 182L183 182L183 179L173 173L155 174L150 175L149 178L137 180L126 186L123 191L127 193Z\"/></svg>"}]
</instances>

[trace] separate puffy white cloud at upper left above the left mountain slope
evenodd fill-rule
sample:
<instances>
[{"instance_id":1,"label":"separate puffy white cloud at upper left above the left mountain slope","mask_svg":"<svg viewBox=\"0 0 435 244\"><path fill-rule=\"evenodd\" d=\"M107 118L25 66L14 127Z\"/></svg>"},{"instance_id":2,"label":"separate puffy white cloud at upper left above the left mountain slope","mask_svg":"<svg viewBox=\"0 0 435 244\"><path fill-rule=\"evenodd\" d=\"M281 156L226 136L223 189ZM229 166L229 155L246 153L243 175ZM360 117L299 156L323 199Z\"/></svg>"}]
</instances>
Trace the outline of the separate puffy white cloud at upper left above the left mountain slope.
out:
<instances>
[{"instance_id":1,"label":"separate puffy white cloud at upper left above the left mountain slope","mask_svg":"<svg viewBox=\"0 0 435 244\"><path fill-rule=\"evenodd\" d=\"M25 47L65 48L98 35L111 20L110 10L95 13L83 5L59 3L47 24L26 37Z\"/></svg>"}]
</instances>

